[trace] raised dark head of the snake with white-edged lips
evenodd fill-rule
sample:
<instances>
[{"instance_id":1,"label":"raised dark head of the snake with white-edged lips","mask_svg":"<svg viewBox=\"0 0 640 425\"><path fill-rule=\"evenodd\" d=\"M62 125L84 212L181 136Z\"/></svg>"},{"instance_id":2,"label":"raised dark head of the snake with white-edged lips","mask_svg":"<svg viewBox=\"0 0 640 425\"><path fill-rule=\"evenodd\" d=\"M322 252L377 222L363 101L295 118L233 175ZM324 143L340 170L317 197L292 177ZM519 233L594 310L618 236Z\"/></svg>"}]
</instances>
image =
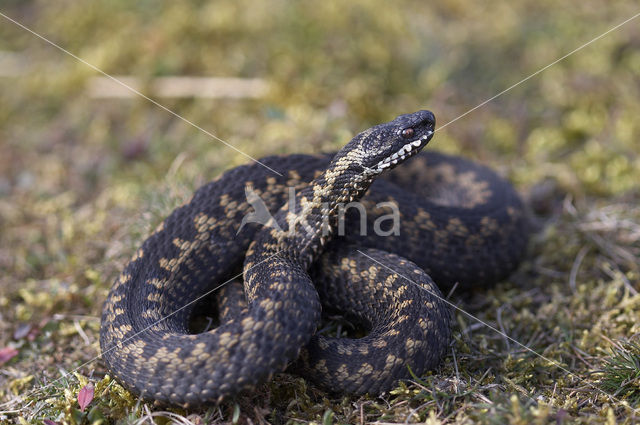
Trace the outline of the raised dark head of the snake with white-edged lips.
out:
<instances>
[{"instance_id":1,"label":"raised dark head of the snake with white-edged lips","mask_svg":"<svg viewBox=\"0 0 640 425\"><path fill-rule=\"evenodd\" d=\"M433 137L436 119L430 111L398 116L354 137L335 158L349 168L377 175L418 153Z\"/></svg>"}]
</instances>

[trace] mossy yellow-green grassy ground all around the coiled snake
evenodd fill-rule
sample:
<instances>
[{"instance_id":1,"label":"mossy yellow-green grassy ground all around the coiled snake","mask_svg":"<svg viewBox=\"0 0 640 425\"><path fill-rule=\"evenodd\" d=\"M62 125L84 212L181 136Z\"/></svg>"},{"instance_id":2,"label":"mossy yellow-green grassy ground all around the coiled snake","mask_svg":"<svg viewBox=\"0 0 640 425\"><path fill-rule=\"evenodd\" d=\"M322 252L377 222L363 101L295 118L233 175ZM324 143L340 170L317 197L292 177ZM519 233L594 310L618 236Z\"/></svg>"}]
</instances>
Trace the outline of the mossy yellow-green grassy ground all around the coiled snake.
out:
<instances>
[{"instance_id":1,"label":"mossy yellow-green grassy ground all around the coiled snake","mask_svg":"<svg viewBox=\"0 0 640 425\"><path fill-rule=\"evenodd\" d=\"M638 10L595 0L63 0L7 1L0 12L110 74L264 79L261 99L158 99L258 158L335 149L422 107L442 128ZM0 22L0 51L13 58L0 60L0 350L17 352L0 364L0 422L638 421L637 21L430 145L496 168L535 213L520 269L450 299L544 358L456 312L441 367L380 397L331 397L282 374L189 412L140 403L106 375L95 360L101 305L151 229L247 158L144 99L91 98L94 71ZM95 396L81 411L89 382Z\"/></svg>"}]
</instances>

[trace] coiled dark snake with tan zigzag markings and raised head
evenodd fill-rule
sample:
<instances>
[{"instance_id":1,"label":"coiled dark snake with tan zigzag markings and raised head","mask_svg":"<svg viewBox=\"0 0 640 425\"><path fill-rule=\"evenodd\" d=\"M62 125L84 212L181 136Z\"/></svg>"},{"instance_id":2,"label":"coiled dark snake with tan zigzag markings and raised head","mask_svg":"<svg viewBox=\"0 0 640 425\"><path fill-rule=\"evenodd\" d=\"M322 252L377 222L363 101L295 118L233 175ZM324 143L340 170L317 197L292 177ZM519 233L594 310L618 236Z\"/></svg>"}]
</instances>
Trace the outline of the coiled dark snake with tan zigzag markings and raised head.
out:
<instances>
[{"instance_id":1,"label":"coiled dark snake with tan zigzag markings and raised head","mask_svg":"<svg viewBox=\"0 0 640 425\"><path fill-rule=\"evenodd\" d=\"M109 291L110 373L142 399L190 407L285 370L330 393L379 394L436 368L452 339L440 288L504 279L529 231L497 173L421 152L434 132L430 111L403 114L336 153L269 156L197 189ZM206 294L219 322L194 330ZM362 334L319 332L333 313Z\"/></svg>"}]
</instances>

